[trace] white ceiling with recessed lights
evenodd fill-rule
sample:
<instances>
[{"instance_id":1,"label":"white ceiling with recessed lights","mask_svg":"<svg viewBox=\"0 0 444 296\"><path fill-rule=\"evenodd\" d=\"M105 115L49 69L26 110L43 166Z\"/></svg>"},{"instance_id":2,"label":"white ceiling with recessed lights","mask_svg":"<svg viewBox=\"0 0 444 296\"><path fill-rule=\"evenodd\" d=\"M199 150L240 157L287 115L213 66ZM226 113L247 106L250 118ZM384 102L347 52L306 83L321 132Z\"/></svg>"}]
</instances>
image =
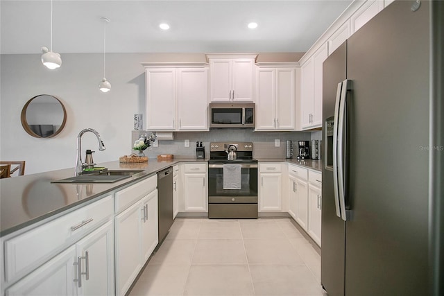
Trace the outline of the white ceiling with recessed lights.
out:
<instances>
[{"instance_id":1,"label":"white ceiling with recessed lights","mask_svg":"<svg viewBox=\"0 0 444 296\"><path fill-rule=\"evenodd\" d=\"M53 51L107 53L303 52L350 0L53 1ZM1 0L1 53L50 46L51 1ZM169 31L158 25L166 21ZM259 26L247 28L250 21Z\"/></svg>"}]
</instances>

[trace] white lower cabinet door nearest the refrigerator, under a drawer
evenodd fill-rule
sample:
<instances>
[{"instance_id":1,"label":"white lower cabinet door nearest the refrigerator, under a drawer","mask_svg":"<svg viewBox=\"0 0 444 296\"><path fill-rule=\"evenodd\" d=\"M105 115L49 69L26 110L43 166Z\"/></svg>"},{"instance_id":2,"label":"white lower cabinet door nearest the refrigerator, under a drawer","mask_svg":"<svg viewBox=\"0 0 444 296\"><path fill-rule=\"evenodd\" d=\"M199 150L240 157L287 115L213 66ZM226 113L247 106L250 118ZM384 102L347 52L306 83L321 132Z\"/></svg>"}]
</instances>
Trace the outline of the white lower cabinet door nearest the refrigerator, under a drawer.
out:
<instances>
[{"instance_id":1,"label":"white lower cabinet door nearest the refrigerator, under a drawer","mask_svg":"<svg viewBox=\"0 0 444 296\"><path fill-rule=\"evenodd\" d=\"M321 190L313 185L308 187L308 234L321 246Z\"/></svg>"}]
</instances>

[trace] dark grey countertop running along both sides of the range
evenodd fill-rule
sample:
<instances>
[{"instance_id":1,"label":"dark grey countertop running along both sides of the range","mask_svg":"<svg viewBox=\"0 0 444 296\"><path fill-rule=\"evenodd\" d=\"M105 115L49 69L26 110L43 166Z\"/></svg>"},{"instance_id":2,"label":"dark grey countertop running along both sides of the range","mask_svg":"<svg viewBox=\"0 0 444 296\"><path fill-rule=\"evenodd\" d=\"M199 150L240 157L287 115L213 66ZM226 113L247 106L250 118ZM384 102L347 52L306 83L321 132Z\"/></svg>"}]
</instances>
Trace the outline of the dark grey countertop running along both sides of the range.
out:
<instances>
[{"instance_id":1,"label":"dark grey countertop running along both sides of the range","mask_svg":"<svg viewBox=\"0 0 444 296\"><path fill-rule=\"evenodd\" d=\"M321 161L307 159L259 158L259 162L289 162L321 171ZM111 184L51 183L74 176L74 168L49 171L0 180L0 237L33 225L41 220L77 207L84 202L103 196L145 177L155 175L164 168L179 162L207 162L207 159L178 158L157 162L149 159L142 164L121 164L118 161L97 164L109 170L144 170L124 180Z\"/></svg>"}]
</instances>

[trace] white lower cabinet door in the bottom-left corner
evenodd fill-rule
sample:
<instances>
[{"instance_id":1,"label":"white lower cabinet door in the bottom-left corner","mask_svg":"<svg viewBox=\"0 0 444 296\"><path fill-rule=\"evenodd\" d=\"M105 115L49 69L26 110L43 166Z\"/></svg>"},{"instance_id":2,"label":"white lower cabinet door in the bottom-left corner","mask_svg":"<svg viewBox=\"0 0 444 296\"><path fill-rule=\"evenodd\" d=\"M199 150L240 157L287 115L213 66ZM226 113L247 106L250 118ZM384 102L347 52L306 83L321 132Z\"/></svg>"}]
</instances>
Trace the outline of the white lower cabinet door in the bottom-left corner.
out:
<instances>
[{"instance_id":1,"label":"white lower cabinet door in the bottom-left corner","mask_svg":"<svg viewBox=\"0 0 444 296\"><path fill-rule=\"evenodd\" d=\"M76 295L75 259L73 245L8 288L6 295Z\"/></svg>"}]
</instances>

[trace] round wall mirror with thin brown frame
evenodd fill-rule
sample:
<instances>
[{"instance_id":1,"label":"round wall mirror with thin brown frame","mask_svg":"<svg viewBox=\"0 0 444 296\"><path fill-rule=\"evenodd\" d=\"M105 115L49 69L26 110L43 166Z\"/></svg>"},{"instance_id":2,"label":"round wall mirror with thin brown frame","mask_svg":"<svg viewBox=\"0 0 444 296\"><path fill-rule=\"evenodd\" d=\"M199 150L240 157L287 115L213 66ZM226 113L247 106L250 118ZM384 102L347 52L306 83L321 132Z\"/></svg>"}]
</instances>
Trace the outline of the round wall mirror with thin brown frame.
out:
<instances>
[{"instance_id":1,"label":"round wall mirror with thin brown frame","mask_svg":"<svg viewBox=\"0 0 444 296\"><path fill-rule=\"evenodd\" d=\"M24 130L36 138L51 138L65 127L67 110L55 96L40 94L31 98L22 110Z\"/></svg>"}]
</instances>

